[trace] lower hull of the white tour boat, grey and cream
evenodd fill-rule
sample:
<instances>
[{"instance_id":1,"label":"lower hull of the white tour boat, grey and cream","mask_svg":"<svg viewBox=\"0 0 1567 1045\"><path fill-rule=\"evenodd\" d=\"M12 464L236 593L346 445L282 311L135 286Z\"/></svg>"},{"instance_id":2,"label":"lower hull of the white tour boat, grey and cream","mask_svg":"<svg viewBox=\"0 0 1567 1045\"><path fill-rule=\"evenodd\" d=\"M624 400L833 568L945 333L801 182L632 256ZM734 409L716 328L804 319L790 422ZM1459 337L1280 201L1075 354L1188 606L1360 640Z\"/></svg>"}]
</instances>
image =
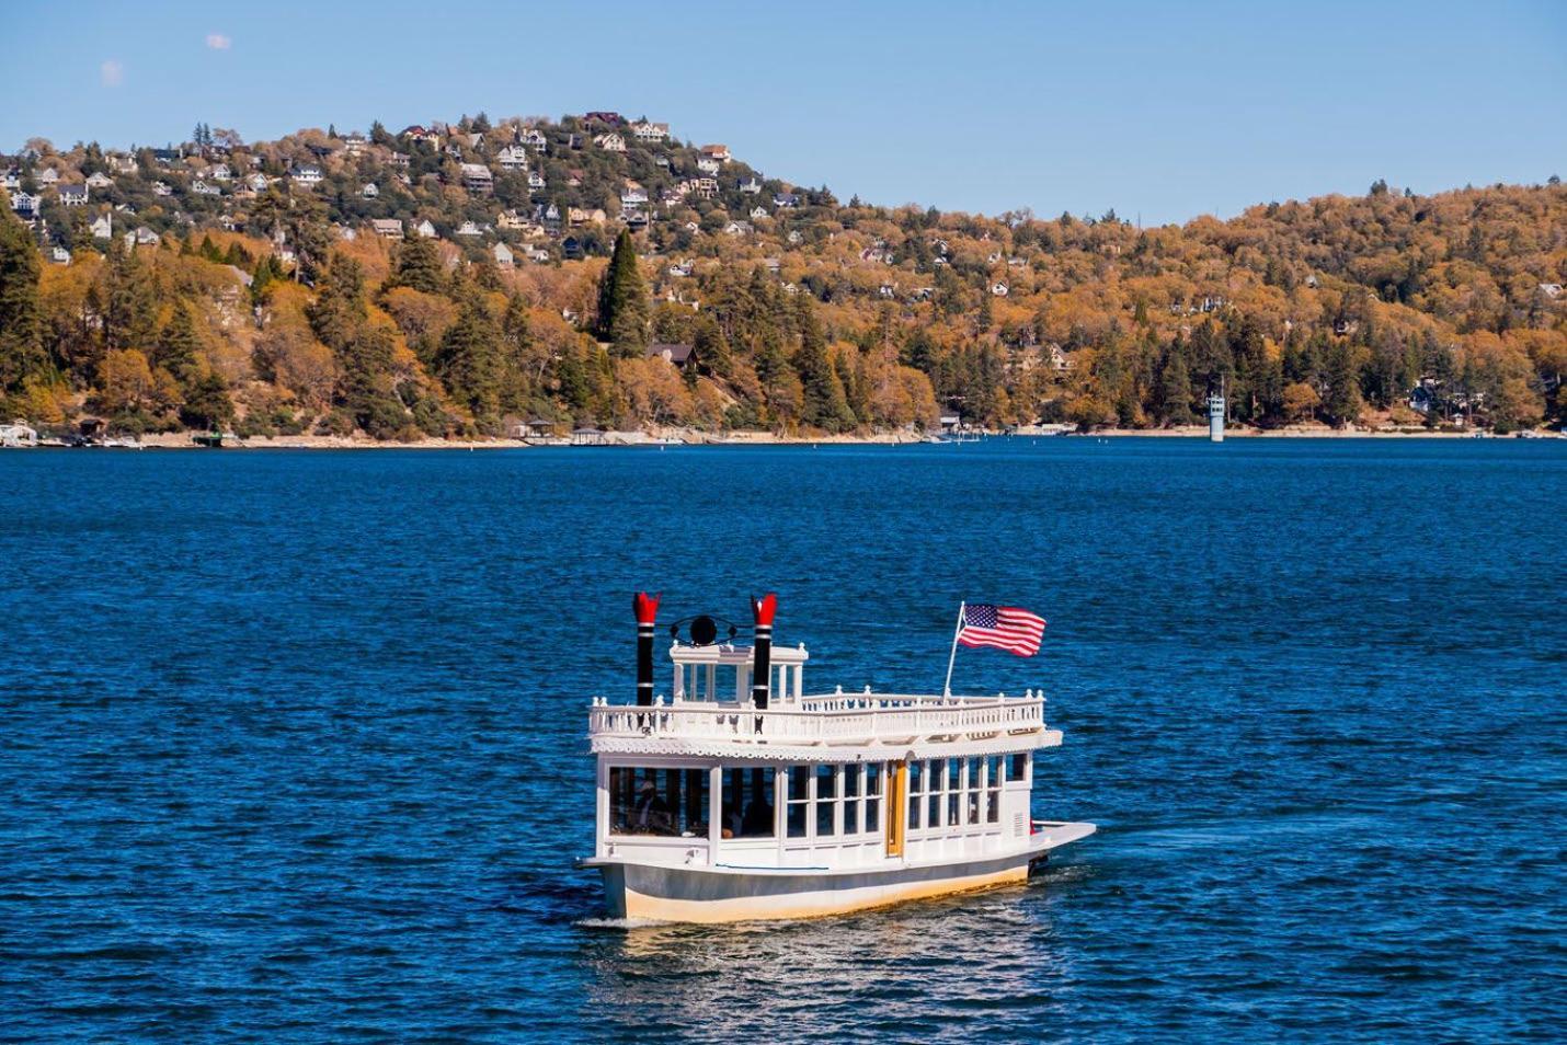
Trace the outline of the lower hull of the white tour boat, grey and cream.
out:
<instances>
[{"instance_id":1,"label":"lower hull of the white tour boat, grey and cream","mask_svg":"<svg viewBox=\"0 0 1567 1045\"><path fill-rule=\"evenodd\" d=\"M1081 824L1083 837L1092 826ZM953 863L903 865L857 871L658 866L619 860L584 860L603 874L605 901L614 918L729 923L820 918L915 899L1022 882L1030 866L1055 844Z\"/></svg>"}]
</instances>

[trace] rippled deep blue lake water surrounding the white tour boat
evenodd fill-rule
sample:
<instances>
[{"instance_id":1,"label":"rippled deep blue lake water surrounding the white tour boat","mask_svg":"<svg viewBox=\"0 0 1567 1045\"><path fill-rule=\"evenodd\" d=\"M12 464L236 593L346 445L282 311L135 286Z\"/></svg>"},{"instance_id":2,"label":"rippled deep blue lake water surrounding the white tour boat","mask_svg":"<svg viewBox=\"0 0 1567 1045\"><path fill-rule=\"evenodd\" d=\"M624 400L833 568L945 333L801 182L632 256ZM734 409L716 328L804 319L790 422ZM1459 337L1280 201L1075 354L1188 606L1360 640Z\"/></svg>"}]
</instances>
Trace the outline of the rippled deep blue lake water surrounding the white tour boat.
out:
<instances>
[{"instance_id":1,"label":"rippled deep blue lake water surrounding the white tour boat","mask_svg":"<svg viewBox=\"0 0 1567 1045\"><path fill-rule=\"evenodd\" d=\"M1520 1040L1567 1021L1564 442L0 453L0 1036ZM589 696L1050 619L1028 887L600 913ZM660 688L668 667L660 656Z\"/></svg>"}]
</instances>

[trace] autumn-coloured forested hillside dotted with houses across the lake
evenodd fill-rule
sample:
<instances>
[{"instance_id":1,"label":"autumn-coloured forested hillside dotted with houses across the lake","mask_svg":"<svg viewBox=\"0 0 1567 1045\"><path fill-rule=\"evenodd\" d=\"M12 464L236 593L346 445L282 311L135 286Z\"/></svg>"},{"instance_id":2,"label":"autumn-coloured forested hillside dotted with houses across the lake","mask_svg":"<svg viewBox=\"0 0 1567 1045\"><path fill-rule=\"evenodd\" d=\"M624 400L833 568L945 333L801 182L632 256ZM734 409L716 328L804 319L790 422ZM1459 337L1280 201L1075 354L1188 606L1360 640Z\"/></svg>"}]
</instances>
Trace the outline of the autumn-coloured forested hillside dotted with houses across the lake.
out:
<instances>
[{"instance_id":1,"label":"autumn-coloured forested hillside dotted with houses across the lake","mask_svg":"<svg viewBox=\"0 0 1567 1045\"><path fill-rule=\"evenodd\" d=\"M1219 381L1258 426L1567 407L1554 177L1138 229L843 202L614 113L5 168L0 395L34 425L1156 428Z\"/></svg>"}]
</instances>

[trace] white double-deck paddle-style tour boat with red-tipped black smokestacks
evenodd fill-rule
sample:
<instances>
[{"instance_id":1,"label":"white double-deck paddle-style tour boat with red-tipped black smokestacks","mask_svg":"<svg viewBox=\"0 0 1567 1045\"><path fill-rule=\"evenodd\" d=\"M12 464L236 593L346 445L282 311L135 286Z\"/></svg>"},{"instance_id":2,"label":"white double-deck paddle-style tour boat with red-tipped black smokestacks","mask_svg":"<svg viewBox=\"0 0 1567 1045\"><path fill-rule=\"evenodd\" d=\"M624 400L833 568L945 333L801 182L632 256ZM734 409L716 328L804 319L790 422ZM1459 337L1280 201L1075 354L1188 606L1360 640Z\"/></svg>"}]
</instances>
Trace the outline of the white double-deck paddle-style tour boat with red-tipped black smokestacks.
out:
<instances>
[{"instance_id":1,"label":"white double-deck paddle-style tour boat with red-tipped black smokestacks","mask_svg":"<svg viewBox=\"0 0 1567 1045\"><path fill-rule=\"evenodd\" d=\"M776 600L741 628L674 628L653 696L658 598L636 597L636 703L595 699L594 855L610 913L804 918L1026 879L1092 824L1034 819L1044 696L807 694L804 645L774 649ZM686 627L682 638L680 628Z\"/></svg>"}]
</instances>

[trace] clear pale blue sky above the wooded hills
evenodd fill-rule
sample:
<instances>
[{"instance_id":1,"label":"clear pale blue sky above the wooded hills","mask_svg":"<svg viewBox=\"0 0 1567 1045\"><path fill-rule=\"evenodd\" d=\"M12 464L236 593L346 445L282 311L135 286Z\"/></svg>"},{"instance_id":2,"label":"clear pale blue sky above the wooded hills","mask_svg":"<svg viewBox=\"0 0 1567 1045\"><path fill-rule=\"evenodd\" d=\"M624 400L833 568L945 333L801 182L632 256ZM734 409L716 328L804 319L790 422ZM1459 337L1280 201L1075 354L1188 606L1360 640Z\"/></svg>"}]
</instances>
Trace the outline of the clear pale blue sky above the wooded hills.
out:
<instances>
[{"instance_id":1,"label":"clear pale blue sky above the wooded hills","mask_svg":"<svg viewBox=\"0 0 1567 1045\"><path fill-rule=\"evenodd\" d=\"M67 6L6 17L0 149L608 108L843 199L1150 224L1567 175L1564 0Z\"/></svg>"}]
</instances>

